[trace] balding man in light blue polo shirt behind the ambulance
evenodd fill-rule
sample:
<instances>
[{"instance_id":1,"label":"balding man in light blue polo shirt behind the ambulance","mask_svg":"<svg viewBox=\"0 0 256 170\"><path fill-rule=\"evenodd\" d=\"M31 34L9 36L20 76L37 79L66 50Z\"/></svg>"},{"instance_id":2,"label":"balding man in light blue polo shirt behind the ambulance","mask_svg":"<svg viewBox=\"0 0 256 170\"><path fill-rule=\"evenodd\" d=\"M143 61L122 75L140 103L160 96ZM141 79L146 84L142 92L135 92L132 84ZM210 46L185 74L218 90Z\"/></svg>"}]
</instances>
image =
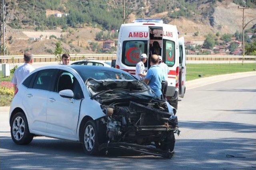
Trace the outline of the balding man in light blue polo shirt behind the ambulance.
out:
<instances>
[{"instance_id":1,"label":"balding man in light blue polo shirt behind the ambulance","mask_svg":"<svg viewBox=\"0 0 256 170\"><path fill-rule=\"evenodd\" d=\"M150 88L155 92L157 98L161 98L162 95L162 80L163 71L158 65L159 57L158 55L152 55L150 58L151 67L148 69L147 75L144 82L150 86Z\"/></svg>"}]
</instances>

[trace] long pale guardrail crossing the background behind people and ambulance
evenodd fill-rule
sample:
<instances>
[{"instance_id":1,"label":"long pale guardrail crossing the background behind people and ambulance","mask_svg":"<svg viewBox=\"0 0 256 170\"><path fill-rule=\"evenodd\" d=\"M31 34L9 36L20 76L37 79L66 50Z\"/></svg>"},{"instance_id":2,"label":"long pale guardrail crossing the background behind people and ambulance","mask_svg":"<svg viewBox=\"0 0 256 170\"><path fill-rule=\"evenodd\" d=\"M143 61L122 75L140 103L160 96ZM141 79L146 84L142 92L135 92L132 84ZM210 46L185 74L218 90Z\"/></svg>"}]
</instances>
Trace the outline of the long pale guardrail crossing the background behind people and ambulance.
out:
<instances>
[{"instance_id":1,"label":"long pale guardrail crossing the background behind people and ambulance","mask_svg":"<svg viewBox=\"0 0 256 170\"><path fill-rule=\"evenodd\" d=\"M105 60L105 59L115 59L116 58L116 54L70 54L71 58L82 58L82 59L88 59L88 58L96 58L96 59L101 59L101 60ZM56 58L55 55L34 55L34 59L44 59L44 61L46 61L46 59L53 59ZM104 59L105 58L105 59ZM246 55L246 56L242 56L242 55L186 55L186 58L188 60L251 60L254 61L256 60L256 56L252 56L252 55ZM14 60L14 59L18 59L20 61L20 59L23 59L23 55L8 55L8 56L0 56L0 59L2 60L2 63L5 63L3 61L8 60L10 63L10 60ZM52 61L52 60L50 60ZM22 61L23 62L23 61Z\"/></svg>"}]
</instances>

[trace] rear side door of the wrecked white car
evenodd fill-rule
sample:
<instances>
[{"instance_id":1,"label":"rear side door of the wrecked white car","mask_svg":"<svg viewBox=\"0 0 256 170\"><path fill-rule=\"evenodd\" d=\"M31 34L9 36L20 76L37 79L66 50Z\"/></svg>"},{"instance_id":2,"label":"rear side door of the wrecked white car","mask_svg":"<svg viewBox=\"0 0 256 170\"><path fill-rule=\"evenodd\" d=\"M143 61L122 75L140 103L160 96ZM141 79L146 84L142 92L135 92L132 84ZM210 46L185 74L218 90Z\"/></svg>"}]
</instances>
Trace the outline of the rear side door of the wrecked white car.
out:
<instances>
[{"instance_id":1,"label":"rear side door of the wrecked white car","mask_svg":"<svg viewBox=\"0 0 256 170\"><path fill-rule=\"evenodd\" d=\"M30 129L36 133L46 132L46 105L55 69L45 69L36 72L31 88L24 94L23 105L30 116Z\"/></svg>"}]
</instances>

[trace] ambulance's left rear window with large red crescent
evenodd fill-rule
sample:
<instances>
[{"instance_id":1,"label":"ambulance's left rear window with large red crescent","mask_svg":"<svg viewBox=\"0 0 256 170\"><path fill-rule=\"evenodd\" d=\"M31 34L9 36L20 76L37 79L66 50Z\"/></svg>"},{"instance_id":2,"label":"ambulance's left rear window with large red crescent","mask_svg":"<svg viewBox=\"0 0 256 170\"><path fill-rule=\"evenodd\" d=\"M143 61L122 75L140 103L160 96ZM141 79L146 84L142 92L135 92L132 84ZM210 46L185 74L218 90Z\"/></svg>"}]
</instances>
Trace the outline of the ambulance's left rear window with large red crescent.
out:
<instances>
[{"instance_id":1,"label":"ambulance's left rear window with large red crescent","mask_svg":"<svg viewBox=\"0 0 256 170\"><path fill-rule=\"evenodd\" d=\"M148 53L148 41L124 41L122 47L122 63L126 66L136 66L141 54ZM145 63L147 67L147 62Z\"/></svg>"}]
</instances>

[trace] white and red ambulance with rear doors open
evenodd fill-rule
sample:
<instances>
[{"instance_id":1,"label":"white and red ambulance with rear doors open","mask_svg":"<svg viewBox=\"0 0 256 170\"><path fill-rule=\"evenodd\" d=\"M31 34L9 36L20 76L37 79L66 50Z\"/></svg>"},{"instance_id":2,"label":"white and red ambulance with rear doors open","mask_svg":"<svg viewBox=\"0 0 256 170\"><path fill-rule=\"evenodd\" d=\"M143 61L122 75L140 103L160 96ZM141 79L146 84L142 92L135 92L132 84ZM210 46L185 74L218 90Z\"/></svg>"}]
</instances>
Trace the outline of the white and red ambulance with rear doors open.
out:
<instances>
[{"instance_id":1,"label":"white and red ambulance with rear doors open","mask_svg":"<svg viewBox=\"0 0 256 170\"><path fill-rule=\"evenodd\" d=\"M177 109L178 96L184 97L186 81L186 55L184 37L178 38L175 25L164 24L162 20L136 19L122 24L118 36L115 67L135 75L140 55L147 54L145 69L150 68L152 54L162 56L168 70L168 102Z\"/></svg>"}]
</instances>

